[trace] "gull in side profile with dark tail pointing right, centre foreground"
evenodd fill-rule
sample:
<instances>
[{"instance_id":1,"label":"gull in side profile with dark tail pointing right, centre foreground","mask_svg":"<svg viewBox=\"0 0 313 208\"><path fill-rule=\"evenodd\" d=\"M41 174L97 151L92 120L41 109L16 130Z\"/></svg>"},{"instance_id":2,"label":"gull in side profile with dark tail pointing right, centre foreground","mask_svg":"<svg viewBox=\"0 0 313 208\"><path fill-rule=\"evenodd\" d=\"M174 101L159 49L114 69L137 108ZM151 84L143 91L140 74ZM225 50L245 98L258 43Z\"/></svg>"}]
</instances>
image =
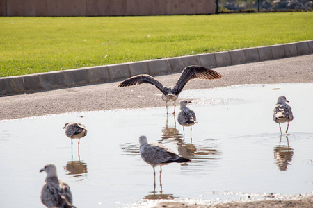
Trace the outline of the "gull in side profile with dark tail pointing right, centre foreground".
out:
<instances>
[{"instance_id":1,"label":"gull in side profile with dark tail pointing right, centre foreground","mask_svg":"<svg viewBox=\"0 0 313 208\"><path fill-rule=\"evenodd\" d=\"M159 143L149 142L147 143L147 137L141 136L139 137L140 144L140 152L141 158L147 164L150 164L153 168L154 174L154 187L155 187L155 168L156 166L160 166L160 186L161 184L161 173L162 173L162 165L168 164L171 162L188 162L190 159L180 157L176 153L174 153L170 148L163 146Z\"/></svg>"}]
</instances>

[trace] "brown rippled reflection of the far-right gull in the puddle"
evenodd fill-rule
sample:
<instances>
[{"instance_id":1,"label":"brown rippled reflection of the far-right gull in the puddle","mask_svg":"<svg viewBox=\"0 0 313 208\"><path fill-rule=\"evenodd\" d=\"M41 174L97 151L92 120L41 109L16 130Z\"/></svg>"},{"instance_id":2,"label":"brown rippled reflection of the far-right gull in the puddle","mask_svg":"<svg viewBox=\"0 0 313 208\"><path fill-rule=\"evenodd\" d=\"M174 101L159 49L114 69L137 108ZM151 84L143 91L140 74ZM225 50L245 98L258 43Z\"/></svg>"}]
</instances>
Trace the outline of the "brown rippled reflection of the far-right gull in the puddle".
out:
<instances>
[{"instance_id":1,"label":"brown rippled reflection of the far-right gull in the puddle","mask_svg":"<svg viewBox=\"0 0 313 208\"><path fill-rule=\"evenodd\" d=\"M294 155L294 148L289 146L288 135L284 135L287 140L287 146L282 145L282 136L280 135L280 144L274 147L274 158L277 160L280 171L287 171L287 166L290 164Z\"/></svg>"}]
</instances>

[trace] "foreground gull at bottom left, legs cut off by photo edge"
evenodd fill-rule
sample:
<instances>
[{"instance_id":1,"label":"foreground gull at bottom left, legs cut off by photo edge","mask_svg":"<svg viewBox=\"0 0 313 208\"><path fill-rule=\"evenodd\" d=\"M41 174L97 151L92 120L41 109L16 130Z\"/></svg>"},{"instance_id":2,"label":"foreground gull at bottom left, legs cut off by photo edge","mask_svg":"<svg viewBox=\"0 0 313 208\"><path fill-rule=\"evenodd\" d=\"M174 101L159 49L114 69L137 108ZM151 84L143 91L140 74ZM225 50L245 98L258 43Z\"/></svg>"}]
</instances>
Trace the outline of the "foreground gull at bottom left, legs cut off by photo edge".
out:
<instances>
[{"instance_id":1,"label":"foreground gull at bottom left, legs cut off by photo edge","mask_svg":"<svg viewBox=\"0 0 313 208\"><path fill-rule=\"evenodd\" d=\"M73 198L70 187L58 179L56 175L56 166L47 164L40 172L45 171L47 177L42 187L40 198L42 204L48 208L75 207L72 205Z\"/></svg>"}]
</instances>

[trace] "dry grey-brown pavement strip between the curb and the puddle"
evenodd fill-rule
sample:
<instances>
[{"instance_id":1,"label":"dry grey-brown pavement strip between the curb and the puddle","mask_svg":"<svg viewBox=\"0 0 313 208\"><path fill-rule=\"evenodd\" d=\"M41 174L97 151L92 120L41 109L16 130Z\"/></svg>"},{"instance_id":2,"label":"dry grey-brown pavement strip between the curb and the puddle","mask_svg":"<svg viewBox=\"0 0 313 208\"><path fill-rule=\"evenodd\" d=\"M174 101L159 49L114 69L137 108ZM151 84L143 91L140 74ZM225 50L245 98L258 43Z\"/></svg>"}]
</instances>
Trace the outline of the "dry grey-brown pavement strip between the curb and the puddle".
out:
<instances>
[{"instance_id":1,"label":"dry grey-brown pavement strip between the curb and the puddle","mask_svg":"<svg viewBox=\"0 0 313 208\"><path fill-rule=\"evenodd\" d=\"M261 83L312 83L313 54L220 67L214 70L221 73L223 78L220 80L193 80L184 89ZM158 76L157 79L163 85L173 85L178 77L179 73L173 73ZM137 85L119 88L119 83L104 83L0 97L0 120L74 111L165 106L165 102L155 96L155 94L160 94L156 87Z\"/></svg>"}]
</instances>

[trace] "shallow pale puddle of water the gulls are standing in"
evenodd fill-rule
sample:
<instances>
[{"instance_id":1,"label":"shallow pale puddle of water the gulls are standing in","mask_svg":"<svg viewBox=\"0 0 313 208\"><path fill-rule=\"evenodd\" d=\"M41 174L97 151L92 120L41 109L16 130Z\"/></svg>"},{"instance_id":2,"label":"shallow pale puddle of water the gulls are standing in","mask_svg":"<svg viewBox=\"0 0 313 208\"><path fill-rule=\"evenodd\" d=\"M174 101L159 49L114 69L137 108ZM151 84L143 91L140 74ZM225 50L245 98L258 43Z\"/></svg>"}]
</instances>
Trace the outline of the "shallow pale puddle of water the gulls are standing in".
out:
<instances>
[{"instance_id":1,"label":"shallow pale puddle of water the gulls are standing in","mask_svg":"<svg viewBox=\"0 0 313 208\"><path fill-rule=\"evenodd\" d=\"M279 88L279 89L278 89ZM313 84L238 85L186 90L198 123L190 128L166 116L166 107L74 112L0 121L0 207L44 207L45 164L72 189L77 207L139 207L146 200L237 200L296 195L313 189ZM280 136L272 119L278 96L294 121ZM169 108L169 112L172 106ZM178 113L178 109L177 109ZM63 125L79 121L88 134L71 141ZM285 130L287 124L282 124ZM143 162L138 137L158 141L191 162L153 169ZM159 167L156 168L159 177Z\"/></svg>"}]
</instances>

